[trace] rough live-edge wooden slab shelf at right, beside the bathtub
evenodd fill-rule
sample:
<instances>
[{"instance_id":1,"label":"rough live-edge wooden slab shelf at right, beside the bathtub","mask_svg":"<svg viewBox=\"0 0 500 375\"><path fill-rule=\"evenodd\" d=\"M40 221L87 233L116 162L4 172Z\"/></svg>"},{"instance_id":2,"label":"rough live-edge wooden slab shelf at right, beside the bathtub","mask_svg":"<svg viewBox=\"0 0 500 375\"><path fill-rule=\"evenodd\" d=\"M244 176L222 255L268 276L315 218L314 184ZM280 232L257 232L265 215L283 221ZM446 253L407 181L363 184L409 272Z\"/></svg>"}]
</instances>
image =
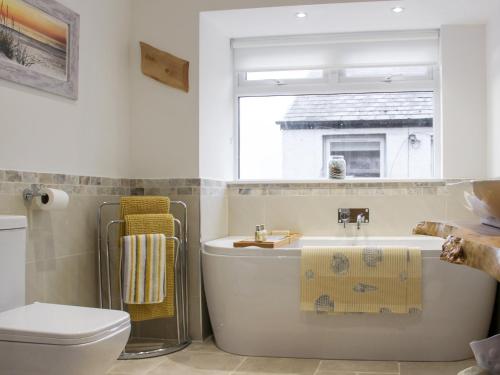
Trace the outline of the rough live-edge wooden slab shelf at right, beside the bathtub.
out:
<instances>
[{"instance_id":1,"label":"rough live-edge wooden slab shelf at right, beside the bathtub","mask_svg":"<svg viewBox=\"0 0 500 375\"><path fill-rule=\"evenodd\" d=\"M477 268L500 281L500 229L476 223L424 221L413 233L445 238L442 260Z\"/></svg>"}]
</instances>

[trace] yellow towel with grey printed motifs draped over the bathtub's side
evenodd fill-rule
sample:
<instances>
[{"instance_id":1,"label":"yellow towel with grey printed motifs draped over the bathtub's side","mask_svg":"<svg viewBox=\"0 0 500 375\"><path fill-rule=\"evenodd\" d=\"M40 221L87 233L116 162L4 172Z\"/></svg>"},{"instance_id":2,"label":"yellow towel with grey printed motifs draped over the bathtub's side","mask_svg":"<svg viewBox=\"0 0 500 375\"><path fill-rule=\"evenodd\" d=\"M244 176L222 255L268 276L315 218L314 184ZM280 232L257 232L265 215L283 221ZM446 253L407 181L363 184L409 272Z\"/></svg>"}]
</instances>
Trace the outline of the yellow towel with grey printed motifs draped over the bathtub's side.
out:
<instances>
[{"instance_id":1,"label":"yellow towel with grey printed motifs draped over the bathtub's side","mask_svg":"<svg viewBox=\"0 0 500 375\"><path fill-rule=\"evenodd\" d=\"M420 312L420 249L305 247L300 308L318 313Z\"/></svg>"}]
</instances>

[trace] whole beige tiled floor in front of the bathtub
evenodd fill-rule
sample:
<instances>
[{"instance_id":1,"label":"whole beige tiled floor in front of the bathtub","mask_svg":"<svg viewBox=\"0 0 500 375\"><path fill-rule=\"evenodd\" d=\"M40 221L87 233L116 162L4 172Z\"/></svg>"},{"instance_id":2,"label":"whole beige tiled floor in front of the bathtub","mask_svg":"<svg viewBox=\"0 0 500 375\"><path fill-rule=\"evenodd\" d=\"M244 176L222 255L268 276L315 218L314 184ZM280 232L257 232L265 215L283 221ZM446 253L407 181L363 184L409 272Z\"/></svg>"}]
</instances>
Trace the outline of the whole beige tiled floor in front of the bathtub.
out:
<instances>
[{"instance_id":1,"label":"whole beige tiled floor in front of the bathtub","mask_svg":"<svg viewBox=\"0 0 500 375\"><path fill-rule=\"evenodd\" d=\"M456 375L475 364L461 362L373 362L242 357L209 341L165 357L117 361L113 375Z\"/></svg>"}]
</instances>

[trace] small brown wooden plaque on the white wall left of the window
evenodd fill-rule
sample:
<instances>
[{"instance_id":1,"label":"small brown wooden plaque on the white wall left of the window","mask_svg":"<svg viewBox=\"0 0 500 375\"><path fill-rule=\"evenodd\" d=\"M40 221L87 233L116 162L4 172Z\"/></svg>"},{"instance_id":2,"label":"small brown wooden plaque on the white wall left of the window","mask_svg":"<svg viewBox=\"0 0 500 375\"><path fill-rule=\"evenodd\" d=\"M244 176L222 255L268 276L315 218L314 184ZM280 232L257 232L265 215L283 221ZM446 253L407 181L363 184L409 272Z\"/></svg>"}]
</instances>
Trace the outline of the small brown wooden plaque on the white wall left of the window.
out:
<instances>
[{"instance_id":1,"label":"small brown wooden plaque on the white wall left of the window","mask_svg":"<svg viewBox=\"0 0 500 375\"><path fill-rule=\"evenodd\" d=\"M144 75L156 81L189 91L189 61L161 51L147 43L140 42Z\"/></svg>"}]
</instances>

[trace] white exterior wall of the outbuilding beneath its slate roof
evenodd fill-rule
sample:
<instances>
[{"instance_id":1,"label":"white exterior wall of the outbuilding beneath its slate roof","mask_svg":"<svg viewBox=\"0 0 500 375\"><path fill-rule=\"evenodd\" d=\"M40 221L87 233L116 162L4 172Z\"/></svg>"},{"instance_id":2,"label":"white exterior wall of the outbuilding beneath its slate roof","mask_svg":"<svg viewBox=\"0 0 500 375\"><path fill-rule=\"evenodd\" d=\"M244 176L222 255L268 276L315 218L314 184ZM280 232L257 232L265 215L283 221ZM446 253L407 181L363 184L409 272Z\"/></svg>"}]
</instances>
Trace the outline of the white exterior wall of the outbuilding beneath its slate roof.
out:
<instances>
[{"instance_id":1,"label":"white exterior wall of the outbuilding beneath its slate roof","mask_svg":"<svg viewBox=\"0 0 500 375\"><path fill-rule=\"evenodd\" d=\"M283 178L317 179L326 177L324 166L324 136L366 135L385 136L385 162L381 160L385 177L389 178L432 178L432 153L429 134L432 128L378 128L346 130L284 130L282 131ZM408 136L416 134L420 146L410 148ZM410 156L410 158L408 158ZM382 158L384 155L382 155ZM410 161L410 162L408 162ZM349 175L349 171L347 171Z\"/></svg>"}]
</instances>

